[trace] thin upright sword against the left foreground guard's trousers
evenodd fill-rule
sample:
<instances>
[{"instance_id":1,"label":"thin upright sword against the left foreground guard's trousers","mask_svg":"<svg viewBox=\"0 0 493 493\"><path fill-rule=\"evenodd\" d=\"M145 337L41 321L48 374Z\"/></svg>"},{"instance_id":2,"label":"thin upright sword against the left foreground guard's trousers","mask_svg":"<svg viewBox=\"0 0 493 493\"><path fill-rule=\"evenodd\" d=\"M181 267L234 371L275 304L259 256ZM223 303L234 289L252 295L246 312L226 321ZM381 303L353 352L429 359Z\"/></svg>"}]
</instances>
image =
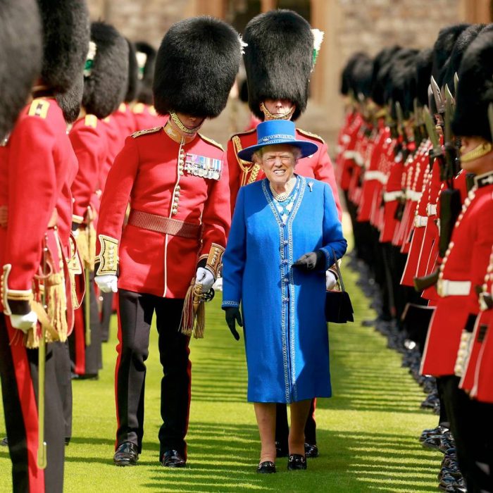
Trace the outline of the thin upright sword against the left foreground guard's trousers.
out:
<instances>
[{"instance_id":1,"label":"thin upright sword against the left foreground guard's trousers","mask_svg":"<svg viewBox=\"0 0 493 493\"><path fill-rule=\"evenodd\" d=\"M43 290L41 300L43 309L46 311L46 254L48 252L47 238L44 236L43 247ZM45 364L46 364L46 327L43 323L41 326L41 336L39 337L38 348L38 447L37 447L37 466L39 469L46 468L46 442L44 441L44 382L45 382Z\"/></svg>"}]
</instances>

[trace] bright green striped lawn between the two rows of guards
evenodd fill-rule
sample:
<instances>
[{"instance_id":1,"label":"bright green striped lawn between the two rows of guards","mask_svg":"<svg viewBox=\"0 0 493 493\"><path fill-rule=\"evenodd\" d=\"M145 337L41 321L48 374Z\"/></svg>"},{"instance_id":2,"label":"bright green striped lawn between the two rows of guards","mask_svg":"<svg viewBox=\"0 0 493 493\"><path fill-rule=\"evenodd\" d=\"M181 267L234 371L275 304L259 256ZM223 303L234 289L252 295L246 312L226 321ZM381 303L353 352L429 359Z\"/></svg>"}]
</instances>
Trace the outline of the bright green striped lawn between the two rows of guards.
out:
<instances>
[{"instance_id":1,"label":"bright green striped lawn between the two rows of guards","mask_svg":"<svg viewBox=\"0 0 493 493\"><path fill-rule=\"evenodd\" d=\"M253 406L246 402L242 342L235 342L220 311L220 295L208 305L206 337L192 341L192 408L185 470L158 463L161 368L151 337L146 382L146 421L139 466L113 466L116 427L113 368L116 320L104 345L99 381L74 382L73 439L66 448L65 492L435 492L441 455L418 442L436 416L419 410L423 392L400 366L384 337L361 327L375 315L344 271L356 321L330 327L332 399L317 408L320 457L308 471L256 475L259 442ZM3 412L0 433L4 436ZM0 491L11 490L8 451L0 449Z\"/></svg>"}]
</instances>

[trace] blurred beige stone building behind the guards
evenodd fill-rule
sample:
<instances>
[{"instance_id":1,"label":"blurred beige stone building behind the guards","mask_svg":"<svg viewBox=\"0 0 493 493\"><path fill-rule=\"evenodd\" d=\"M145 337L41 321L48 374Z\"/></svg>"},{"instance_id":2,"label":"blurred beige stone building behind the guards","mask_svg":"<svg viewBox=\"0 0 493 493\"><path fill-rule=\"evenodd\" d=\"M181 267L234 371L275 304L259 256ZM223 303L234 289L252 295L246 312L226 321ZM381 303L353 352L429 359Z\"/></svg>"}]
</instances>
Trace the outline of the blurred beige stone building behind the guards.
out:
<instances>
[{"instance_id":1,"label":"blurred beige stone building behind the guards","mask_svg":"<svg viewBox=\"0 0 493 493\"><path fill-rule=\"evenodd\" d=\"M342 120L339 73L356 50L373 55L401 44L431 46L438 30L458 21L492 21L493 0L89 0L92 18L107 20L135 41L156 47L168 27L192 15L214 15L242 32L248 20L272 8L291 8L325 32L311 81L311 101L299 126L334 142ZM231 101L204 133L225 143L242 130L246 108ZM332 146L333 149L333 146Z\"/></svg>"}]
</instances>

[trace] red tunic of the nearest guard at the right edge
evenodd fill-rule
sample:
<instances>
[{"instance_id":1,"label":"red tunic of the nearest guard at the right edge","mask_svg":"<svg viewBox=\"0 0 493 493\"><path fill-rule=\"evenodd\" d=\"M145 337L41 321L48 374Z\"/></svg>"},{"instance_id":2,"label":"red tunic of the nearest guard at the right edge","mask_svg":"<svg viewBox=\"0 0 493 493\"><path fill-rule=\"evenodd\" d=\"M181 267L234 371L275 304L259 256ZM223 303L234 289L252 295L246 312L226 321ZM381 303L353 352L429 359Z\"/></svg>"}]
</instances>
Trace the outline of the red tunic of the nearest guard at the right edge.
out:
<instances>
[{"instance_id":1,"label":"red tunic of the nearest guard at the right edge","mask_svg":"<svg viewBox=\"0 0 493 493\"><path fill-rule=\"evenodd\" d=\"M470 192L471 198L466 199L440 267L439 299L421 366L424 374L454 375L461 332L468 316L479 311L475 287L483 283L493 244L493 185L482 183L484 186ZM461 288L468 294L446 296L442 290L447 289L445 281L470 282L468 290Z\"/></svg>"}]
</instances>

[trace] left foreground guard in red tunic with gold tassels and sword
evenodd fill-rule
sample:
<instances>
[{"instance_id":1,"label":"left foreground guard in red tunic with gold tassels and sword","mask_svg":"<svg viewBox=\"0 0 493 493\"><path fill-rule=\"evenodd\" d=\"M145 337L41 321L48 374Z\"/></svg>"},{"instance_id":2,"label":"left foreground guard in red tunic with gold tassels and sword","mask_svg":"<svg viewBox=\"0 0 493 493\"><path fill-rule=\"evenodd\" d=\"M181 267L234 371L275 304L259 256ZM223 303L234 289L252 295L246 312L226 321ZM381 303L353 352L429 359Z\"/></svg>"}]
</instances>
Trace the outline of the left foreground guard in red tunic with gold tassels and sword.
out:
<instances>
[{"instance_id":1,"label":"left foreground guard in red tunic with gold tassels and sword","mask_svg":"<svg viewBox=\"0 0 493 493\"><path fill-rule=\"evenodd\" d=\"M36 4L19 0L11 4L15 10L9 4L2 6L2 19L11 27L1 30L2 53L12 57L7 65L2 63L9 67L9 73L2 74L7 77L6 87L24 92L25 98L38 64L42 70L34 99L20 113L1 153L2 394L14 491L62 492L65 427L51 342L63 341L70 330L65 298L70 293L65 285L67 229L63 218L58 223L58 211L64 212L67 195L62 192L70 182L76 158L55 95L68 91L82 73L89 43L89 13L80 1L58 1L56 5L38 1L42 42ZM8 32L15 33L11 42ZM40 46L44 46L44 53L39 52ZM27 73L23 74L24 70ZM9 75L16 77L10 86ZM48 344L43 392L42 385L38 389L38 376L42 368L39 362L45 356L37 347L45 332ZM44 436L39 429L39 414L43 413ZM42 442L46 442L46 454Z\"/></svg>"}]
</instances>

